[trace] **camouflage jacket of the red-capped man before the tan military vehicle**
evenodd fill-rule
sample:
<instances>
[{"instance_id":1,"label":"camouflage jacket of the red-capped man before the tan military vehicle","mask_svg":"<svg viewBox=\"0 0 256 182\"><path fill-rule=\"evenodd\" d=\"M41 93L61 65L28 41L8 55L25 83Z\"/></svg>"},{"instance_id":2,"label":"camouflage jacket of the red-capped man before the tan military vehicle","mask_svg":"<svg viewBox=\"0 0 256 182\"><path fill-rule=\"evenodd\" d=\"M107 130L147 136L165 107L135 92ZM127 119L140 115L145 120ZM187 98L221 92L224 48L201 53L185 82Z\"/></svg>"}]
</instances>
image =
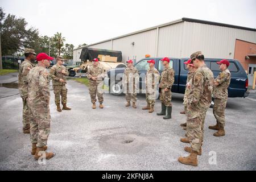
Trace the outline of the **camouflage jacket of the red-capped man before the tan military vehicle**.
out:
<instances>
[{"instance_id":1,"label":"camouflage jacket of the red-capped man before the tan military vehicle","mask_svg":"<svg viewBox=\"0 0 256 182\"><path fill-rule=\"evenodd\" d=\"M100 66L94 67L93 65L90 66L87 72L87 77L90 80L90 83L100 83L104 80L106 77L106 73L104 72L104 69ZM91 78L96 77L97 80L94 81Z\"/></svg>"}]
</instances>

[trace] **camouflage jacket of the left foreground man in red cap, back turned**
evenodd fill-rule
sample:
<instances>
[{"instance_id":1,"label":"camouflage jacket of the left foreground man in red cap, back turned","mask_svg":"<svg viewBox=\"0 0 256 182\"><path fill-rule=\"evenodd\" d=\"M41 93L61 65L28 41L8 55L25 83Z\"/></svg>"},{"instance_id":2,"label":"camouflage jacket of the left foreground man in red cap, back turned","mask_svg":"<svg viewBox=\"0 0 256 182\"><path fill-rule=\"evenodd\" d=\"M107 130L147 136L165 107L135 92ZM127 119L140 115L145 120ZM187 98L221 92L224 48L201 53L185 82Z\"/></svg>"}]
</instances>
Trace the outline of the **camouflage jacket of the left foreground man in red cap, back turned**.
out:
<instances>
[{"instance_id":1,"label":"camouflage jacket of the left foreground man in red cap, back turned","mask_svg":"<svg viewBox=\"0 0 256 182\"><path fill-rule=\"evenodd\" d=\"M37 65L28 73L28 103L30 105L49 104L49 73Z\"/></svg>"}]
</instances>

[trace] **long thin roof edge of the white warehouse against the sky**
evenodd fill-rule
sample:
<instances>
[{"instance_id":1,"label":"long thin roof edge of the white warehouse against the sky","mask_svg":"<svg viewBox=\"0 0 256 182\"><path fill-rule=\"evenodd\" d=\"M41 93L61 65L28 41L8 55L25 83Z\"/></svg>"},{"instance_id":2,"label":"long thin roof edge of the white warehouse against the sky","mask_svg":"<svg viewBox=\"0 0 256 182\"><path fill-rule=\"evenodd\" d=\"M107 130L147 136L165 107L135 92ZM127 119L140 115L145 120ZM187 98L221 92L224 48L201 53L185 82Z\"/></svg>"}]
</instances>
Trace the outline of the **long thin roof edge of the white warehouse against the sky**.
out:
<instances>
[{"instance_id":1,"label":"long thin roof edge of the white warehouse against the sky","mask_svg":"<svg viewBox=\"0 0 256 182\"><path fill-rule=\"evenodd\" d=\"M201 23L201 24L210 24L210 25L214 25L214 26L222 26L222 27L229 27L229 28L237 28L237 29L241 29L241 30L256 31L255 28L235 26L235 25L232 25L232 24L209 22L209 21L206 21L206 20L199 20L199 19L192 19L192 18L181 18L181 19L178 19L178 20L174 20L172 22L160 24L158 26L154 26L154 27L143 29L143 30L135 31L135 32L132 32L130 34L125 34L125 35L117 36L117 37L112 38L112 39L107 39L107 40L103 40L101 42L97 42L97 43L93 43L93 44L90 44L90 45L86 45L86 46L82 46L82 47L79 47L79 48L75 48L73 50L81 49L81 48L89 47L89 46L94 46L94 45L97 45L97 44L100 44L100 43L104 43L104 42L108 42L108 41L111 41L111 40L123 38L123 37L129 36L129 35L139 34L141 32L145 32L145 31L149 31L149 30L154 30L155 28L170 26L171 24L176 24L176 23L181 23L181 22L193 22L193 23Z\"/></svg>"}]
</instances>

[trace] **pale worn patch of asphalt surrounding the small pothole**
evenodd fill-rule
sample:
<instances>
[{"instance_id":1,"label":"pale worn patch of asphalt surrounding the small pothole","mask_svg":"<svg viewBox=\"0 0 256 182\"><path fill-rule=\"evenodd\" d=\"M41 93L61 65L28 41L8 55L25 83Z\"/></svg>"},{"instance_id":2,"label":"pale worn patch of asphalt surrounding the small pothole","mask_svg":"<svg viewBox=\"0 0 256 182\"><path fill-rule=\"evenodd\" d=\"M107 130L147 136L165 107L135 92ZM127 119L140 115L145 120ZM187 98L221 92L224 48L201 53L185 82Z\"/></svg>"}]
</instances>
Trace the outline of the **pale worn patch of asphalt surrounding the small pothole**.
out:
<instances>
[{"instance_id":1,"label":"pale worn patch of asphalt surrounding the small pothole","mask_svg":"<svg viewBox=\"0 0 256 182\"><path fill-rule=\"evenodd\" d=\"M104 152L114 154L134 154L150 144L141 134L114 133L98 138L99 146Z\"/></svg>"}]
</instances>

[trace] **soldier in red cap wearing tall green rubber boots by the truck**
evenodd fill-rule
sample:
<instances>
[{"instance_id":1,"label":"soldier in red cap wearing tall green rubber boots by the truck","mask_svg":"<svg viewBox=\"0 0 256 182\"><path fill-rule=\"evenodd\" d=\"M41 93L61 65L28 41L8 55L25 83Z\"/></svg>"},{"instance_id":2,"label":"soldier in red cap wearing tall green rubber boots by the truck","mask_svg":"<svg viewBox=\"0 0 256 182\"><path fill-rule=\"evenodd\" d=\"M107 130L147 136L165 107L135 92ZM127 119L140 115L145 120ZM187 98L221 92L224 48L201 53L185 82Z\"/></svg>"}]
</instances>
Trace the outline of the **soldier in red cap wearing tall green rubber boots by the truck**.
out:
<instances>
[{"instance_id":1,"label":"soldier in red cap wearing tall green rubber boots by the truck","mask_svg":"<svg viewBox=\"0 0 256 182\"><path fill-rule=\"evenodd\" d=\"M164 57L161 59L163 61L164 70L161 74L161 80L159 84L160 89L160 101L162 103L162 111L157 113L157 115L166 115L163 119L172 118L172 85L174 84L174 69L170 68L170 59ZM167 114L166 114L167 110Z\"/></svg>"}]
</instances>

